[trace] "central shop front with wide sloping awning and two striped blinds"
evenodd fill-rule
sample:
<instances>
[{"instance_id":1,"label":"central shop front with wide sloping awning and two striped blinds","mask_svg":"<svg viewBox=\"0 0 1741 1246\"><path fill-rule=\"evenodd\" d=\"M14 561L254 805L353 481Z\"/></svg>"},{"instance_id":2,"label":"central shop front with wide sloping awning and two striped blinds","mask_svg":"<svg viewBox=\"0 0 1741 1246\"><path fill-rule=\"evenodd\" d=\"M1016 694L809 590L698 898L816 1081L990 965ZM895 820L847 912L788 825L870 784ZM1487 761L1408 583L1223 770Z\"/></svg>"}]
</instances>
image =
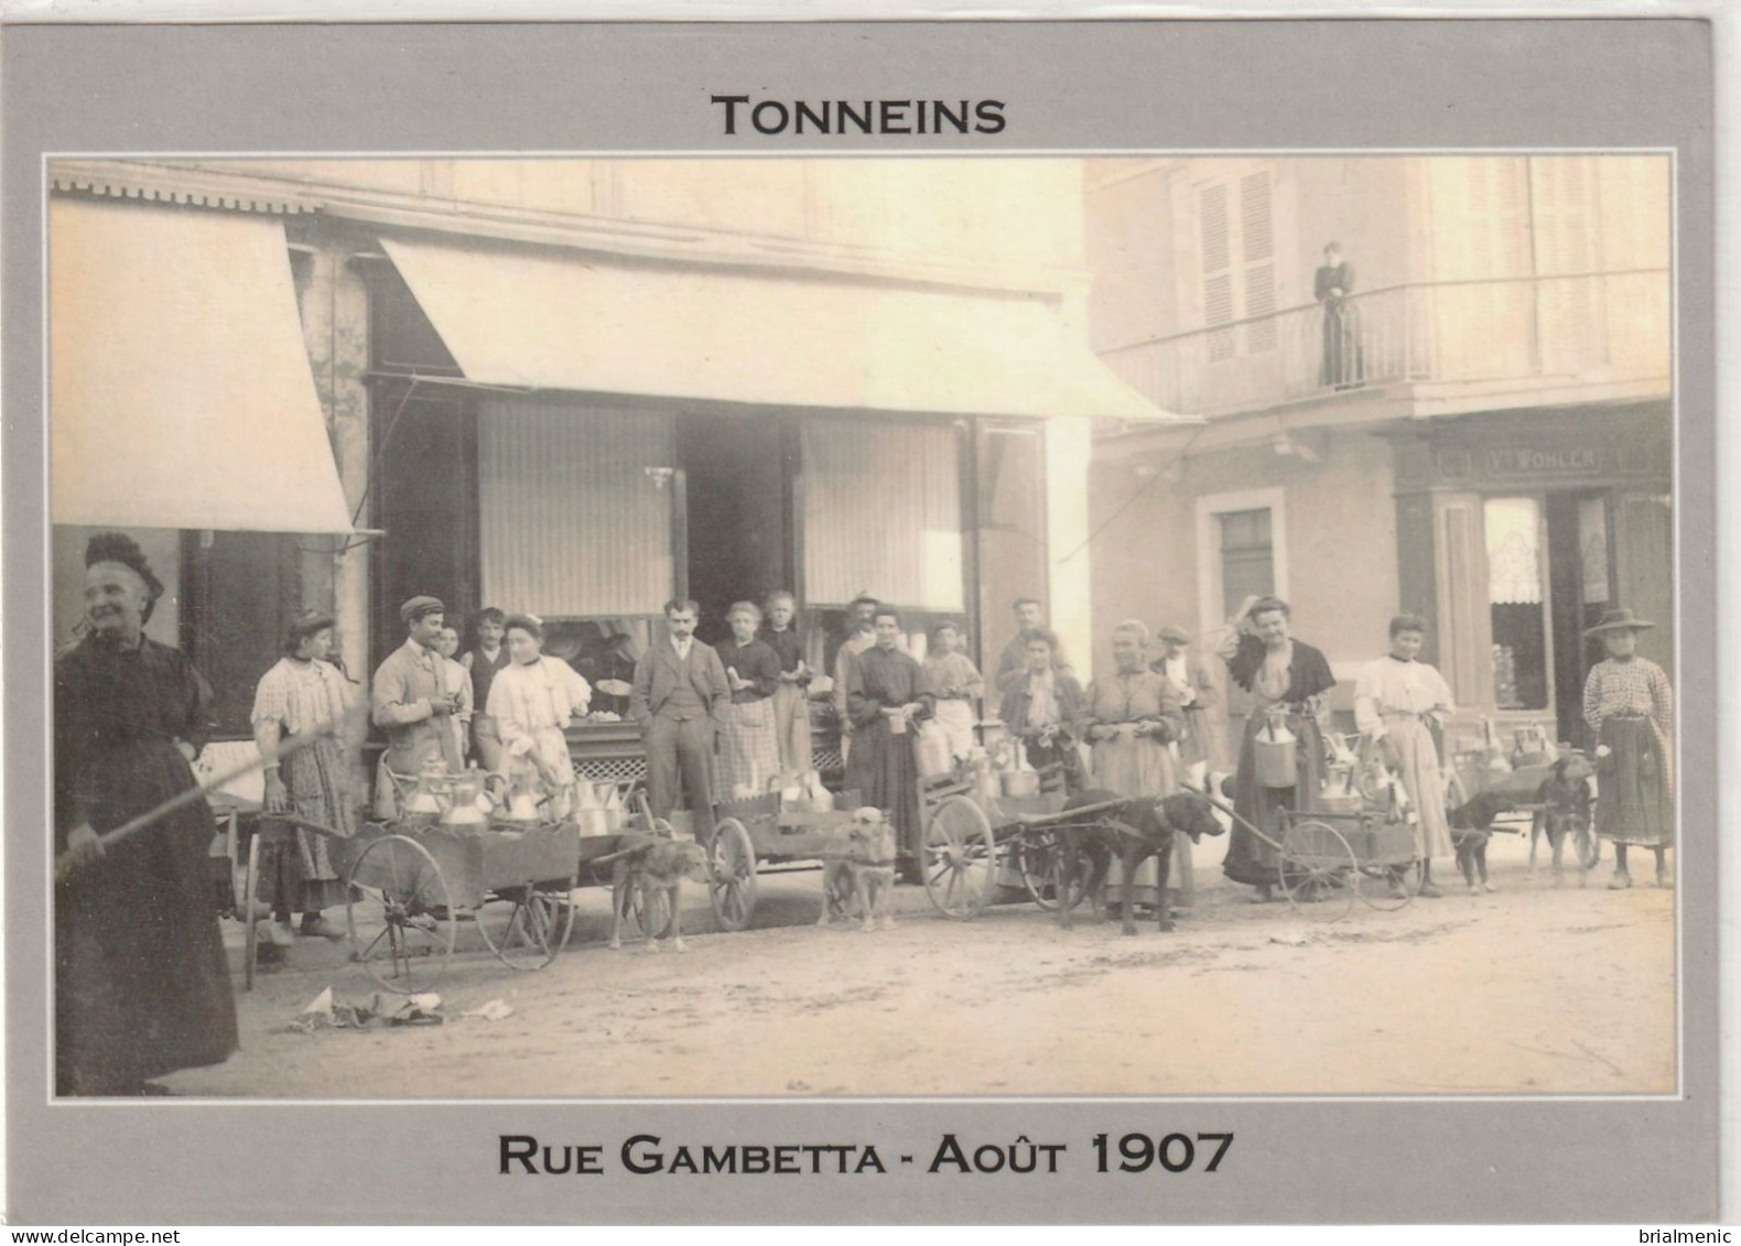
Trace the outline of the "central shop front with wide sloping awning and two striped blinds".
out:
<instances>
[{"instance_id":1,"label":"central shop front with wide sloping awning and two striped blinds","mask_svg":"<svg viewBox=\"0 0 1741 1246\"><path fill-rule=\"evenodd\" d=\"M1055 536L1086 522L1085 477L1057 472L1086 461L1086 416L1161 418L1025 299L453 240L383 252L376 654L399 642L393 606L428 592L468 621L538 614L545 653L627 679L667 599L696 599L714 640L731 602L787 588L817 670L862 593L900 607L916 651L952 618L996 661L1010 602L1059 595ZM581 771L639 776L625 700L594 712L571 731ZM836 771L825 708L817 726Z\"/></svg>"}]
</instances>

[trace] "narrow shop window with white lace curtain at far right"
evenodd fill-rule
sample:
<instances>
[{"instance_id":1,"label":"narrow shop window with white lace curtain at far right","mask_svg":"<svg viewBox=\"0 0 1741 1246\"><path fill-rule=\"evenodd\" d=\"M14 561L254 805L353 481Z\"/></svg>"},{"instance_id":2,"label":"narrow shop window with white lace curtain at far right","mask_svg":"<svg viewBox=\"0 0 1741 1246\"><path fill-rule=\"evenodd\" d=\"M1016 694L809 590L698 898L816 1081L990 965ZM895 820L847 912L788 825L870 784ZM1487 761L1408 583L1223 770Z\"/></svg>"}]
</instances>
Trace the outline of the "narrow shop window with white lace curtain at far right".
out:
<instances>
[{"instance_id":1,"label":"narrow shop window with white lace curtain at far right","mask_svg":"<svg viewBox=\"0 0 1741 1246\"><path fill-rule=\"evenodd\" d=\"M1549 653L1541 503L1534 498L1489 498L1482 512L1494 633L1494 705L1501 710L1544 710L1549 700Z\"/></svg>"}]
</instances>

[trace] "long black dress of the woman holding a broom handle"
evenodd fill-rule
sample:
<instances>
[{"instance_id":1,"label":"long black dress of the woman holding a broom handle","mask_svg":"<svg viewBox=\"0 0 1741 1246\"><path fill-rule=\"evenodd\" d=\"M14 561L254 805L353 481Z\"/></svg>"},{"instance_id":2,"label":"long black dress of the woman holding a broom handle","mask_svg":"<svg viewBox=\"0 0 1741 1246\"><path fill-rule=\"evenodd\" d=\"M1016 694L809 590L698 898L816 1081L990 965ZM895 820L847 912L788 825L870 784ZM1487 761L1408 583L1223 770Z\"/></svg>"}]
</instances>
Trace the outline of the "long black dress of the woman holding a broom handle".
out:
<instances>
[{"instance_id":1,"label":"long black dress of the woman holding a broom handle","mask_svg":"<svg viewBox=\"0 0 1741 1246\"><path fill-rule=\"evenodd\" d=\"M195 787L176 748L205 734L211 691L178 649L85 639L54 663L54 849ZM195 801L54 888L56 1093L125 1095L237 1049L235 1001Z\"/></svg>"}]
</instances>

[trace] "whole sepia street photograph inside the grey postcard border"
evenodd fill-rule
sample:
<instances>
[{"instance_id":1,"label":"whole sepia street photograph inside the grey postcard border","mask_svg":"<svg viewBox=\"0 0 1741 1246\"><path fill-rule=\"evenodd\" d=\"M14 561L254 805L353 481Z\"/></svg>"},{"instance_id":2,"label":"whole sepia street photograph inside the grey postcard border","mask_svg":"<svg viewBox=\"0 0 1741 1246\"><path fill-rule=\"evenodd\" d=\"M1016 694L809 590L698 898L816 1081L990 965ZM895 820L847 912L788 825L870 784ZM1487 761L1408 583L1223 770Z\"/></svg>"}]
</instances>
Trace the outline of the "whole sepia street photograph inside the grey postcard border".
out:
<instances>
[{"instance_id":1,"label":"whole sepia street photograph inside the grey postcard border","mask_svg":"<svg viewBox=\"0 0 1741 1246\"><path fill-rule=\"evenodd\" d=\"M57 1095L1677 1089L1664 157L49 174Z\"/></svg>"}]
</instances>

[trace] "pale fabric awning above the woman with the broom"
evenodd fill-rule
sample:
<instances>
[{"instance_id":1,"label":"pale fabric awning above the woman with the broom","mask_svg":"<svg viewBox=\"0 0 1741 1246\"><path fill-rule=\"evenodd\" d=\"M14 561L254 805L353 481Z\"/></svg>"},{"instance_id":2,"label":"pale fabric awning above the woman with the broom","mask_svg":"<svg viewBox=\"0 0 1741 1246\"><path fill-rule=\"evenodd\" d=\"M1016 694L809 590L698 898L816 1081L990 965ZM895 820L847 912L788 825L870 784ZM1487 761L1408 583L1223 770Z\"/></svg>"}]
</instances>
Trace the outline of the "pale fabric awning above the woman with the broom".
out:
<instances>
[{"instance_id":1,"label":"pale fabric awning above the woman with the broom","mask_svg":"<svg viewBox=\"0 0 1741 1246\"><path fill-rule=\"evenodd\" d=\"M284 224L49 204L56 524L348 533Z\"/></svg>"}]
</instances>

